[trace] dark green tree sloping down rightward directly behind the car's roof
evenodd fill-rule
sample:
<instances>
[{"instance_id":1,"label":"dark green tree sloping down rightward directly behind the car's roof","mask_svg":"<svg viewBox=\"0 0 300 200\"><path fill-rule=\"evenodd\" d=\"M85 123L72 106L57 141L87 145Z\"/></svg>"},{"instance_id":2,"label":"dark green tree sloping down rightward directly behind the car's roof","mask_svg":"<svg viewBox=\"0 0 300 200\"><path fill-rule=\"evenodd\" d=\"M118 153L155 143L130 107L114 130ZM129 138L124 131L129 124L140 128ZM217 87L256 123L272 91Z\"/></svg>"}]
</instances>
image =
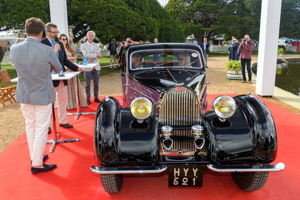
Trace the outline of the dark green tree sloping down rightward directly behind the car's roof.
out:
<instances>
[{"instance_id":1,"label":"dark green tree sloping down rightward directly behind the car's roof","mask_svg":"<svg viewBox=\"0 0 300 200\"><path fill-rule=\"evenodd\" d=\"M159 42L184 42L185 37L182 29L173 19L171 14L165 10L157 0L149 0L150 13L158 24ZM154 38L152 38L153 40Z\"/></svg>"}]
</instances>

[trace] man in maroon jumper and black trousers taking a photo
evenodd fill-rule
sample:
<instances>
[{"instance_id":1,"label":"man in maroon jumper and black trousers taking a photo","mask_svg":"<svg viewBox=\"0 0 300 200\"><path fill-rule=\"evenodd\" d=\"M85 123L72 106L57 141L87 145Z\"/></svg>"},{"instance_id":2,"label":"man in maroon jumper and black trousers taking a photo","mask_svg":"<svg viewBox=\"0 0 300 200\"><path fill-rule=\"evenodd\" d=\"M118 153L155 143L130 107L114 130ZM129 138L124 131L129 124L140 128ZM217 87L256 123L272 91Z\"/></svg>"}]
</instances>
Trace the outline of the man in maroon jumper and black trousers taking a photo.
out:
<instances>
[{"instance_id":1,"label":"man in maroon jumper and black trousers taking a photo","mask_svg":"<svg viewBox=\"0 0 300 200\"><path fill-rule=\"evenodd\" d=\"M243 81L241 83L246 82L246 72L245 72L245 65L247 65L247 72L248 72L248 78L249 83L252 84L252 74L251 74L251 59L252 59L252 49L253 49L254 43L250 40L249 35L245 35L244 39L242 40L242 43L240 46L238 46L238 50L241 51L240 59L241 59L241 67L242 67L242 76Z\"/></svg>"}]
</instances>

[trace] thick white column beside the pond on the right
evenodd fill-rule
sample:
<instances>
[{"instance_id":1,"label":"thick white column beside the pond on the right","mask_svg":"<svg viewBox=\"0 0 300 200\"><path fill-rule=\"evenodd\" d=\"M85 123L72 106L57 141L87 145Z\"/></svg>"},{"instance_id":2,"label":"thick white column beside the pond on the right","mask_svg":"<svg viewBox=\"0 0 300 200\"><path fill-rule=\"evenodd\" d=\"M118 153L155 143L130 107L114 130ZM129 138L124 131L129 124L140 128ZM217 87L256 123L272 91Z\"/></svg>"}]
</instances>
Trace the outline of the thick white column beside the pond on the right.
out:
<instances>
[{"instance_id":1,"label":"thick white column beside the pond on the right","mask_svg":"<svg viewBox=\"0 0 300 200\"><path fill-rule=\"evenodd\" d=\"M256 94L273 96L281 0L262 0L261 10Z\"/></svg>"}]
</instances>

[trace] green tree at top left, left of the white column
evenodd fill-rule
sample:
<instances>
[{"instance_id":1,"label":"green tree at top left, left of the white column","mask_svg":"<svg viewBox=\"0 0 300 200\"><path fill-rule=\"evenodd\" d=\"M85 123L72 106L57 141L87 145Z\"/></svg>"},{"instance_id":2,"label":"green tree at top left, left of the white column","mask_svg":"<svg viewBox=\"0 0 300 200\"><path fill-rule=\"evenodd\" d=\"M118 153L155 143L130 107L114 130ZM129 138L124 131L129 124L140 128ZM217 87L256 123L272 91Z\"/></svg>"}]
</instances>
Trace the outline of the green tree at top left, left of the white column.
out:
<instances>
[{"instance_id":1,"label":"green tree at top left, left of the white column","mask_svg":"<svg viewBox=\"0 0 300 200\"><path fill-rule=\"evenodd\" d=\"M24 30L31 17L49 22L49 0L0 0L0 31Z\"/></svg>"}]
</instances>

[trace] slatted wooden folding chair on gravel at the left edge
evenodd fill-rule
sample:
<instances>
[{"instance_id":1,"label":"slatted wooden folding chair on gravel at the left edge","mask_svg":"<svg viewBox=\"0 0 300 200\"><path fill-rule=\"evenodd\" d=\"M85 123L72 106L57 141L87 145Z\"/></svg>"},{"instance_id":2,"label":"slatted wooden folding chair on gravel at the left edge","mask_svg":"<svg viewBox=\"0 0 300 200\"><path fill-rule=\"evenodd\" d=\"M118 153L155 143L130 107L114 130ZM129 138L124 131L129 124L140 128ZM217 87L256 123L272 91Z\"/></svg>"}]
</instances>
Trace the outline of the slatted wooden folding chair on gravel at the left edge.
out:
<instances>
[{"instance_id":1,"label":"slatted wooden folding chair on gravel at the left edge","mask_svg":"<svg viewBox=\"0 0 300 200\"><path fill-rule=\"evenodd\" d=\"M2 84L4 85L4 88L1 88L1 90L0 90L0 92L2 91L1 94L3 94L3 96L0 97L1 101L2 102L7 101L7 97L8 97L9 101L11 103L13 103L11 100L16 102L16 100L14 98L15 92L16 92L16 85L13 85L13 82L10 81L10 77L9 77L8 72L7 72L6 69L5 70L0 70L0 78L1 78ZM9 82L10 82L11 85L7 85L7 83L9 83ZM6 85L5 85L5 83L6 83ZM5 105L4 103L2 103L2 104Z\"/></svg>"}]
</instances>

